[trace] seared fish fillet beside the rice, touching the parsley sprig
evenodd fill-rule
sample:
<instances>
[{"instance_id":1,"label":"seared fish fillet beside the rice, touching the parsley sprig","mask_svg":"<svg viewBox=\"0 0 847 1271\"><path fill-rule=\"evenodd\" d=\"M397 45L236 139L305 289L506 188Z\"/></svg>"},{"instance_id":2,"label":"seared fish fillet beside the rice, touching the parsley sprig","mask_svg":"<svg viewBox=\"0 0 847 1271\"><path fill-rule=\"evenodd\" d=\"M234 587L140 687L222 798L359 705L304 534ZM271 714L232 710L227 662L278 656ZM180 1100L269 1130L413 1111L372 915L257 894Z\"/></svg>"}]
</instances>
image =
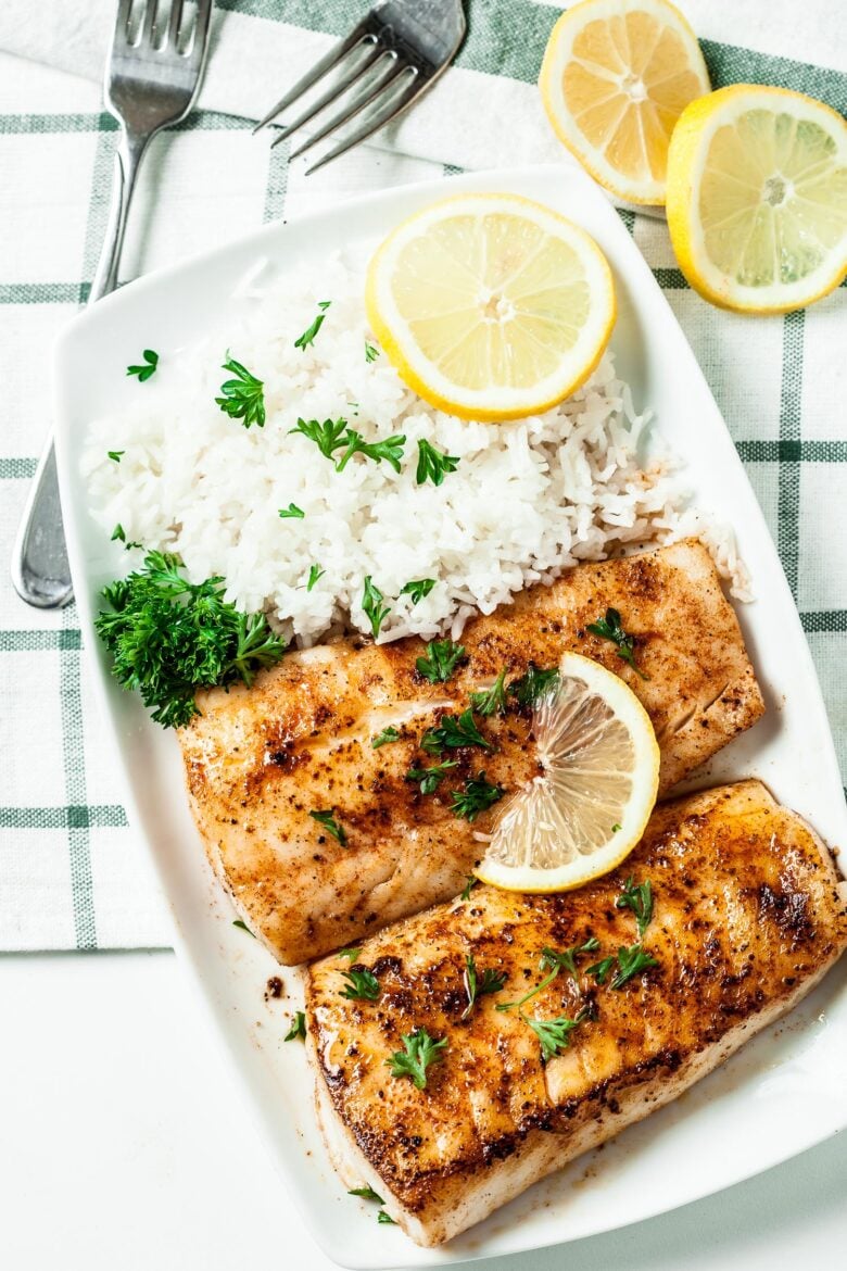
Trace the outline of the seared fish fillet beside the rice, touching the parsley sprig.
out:
<instances>
[{"instance_id":1,"label":"seared fish fillet beside the rice, touching the parsley sprig","mask_svg":"<svg viewBox=\"0 0 847 1271\"><path fill-rule=\"evenodd\" d=\"M637 638L643 680L587 624L612 606ZM530 716L512 705L480 721L493 752L452 752L458 766L423 794L405 779L434 763L424 730L469 705L469 693L556 666L565 649L621 675L646 707L662 749L662 791L763 710L735 614L711 559L683 541L644 555L578 566L536 586L462 634L467 661L446 684L415 670L422 641L343 639L288 655L251 689L198 695L180 731L190 803L210 859L246 924L281 962L302 962L456 896L479 858L451 791L484 770L507 792L537 773ZM514 699L510 699L513 703ZM394 727L400 740L375 749ZM331 812L345 843L310 812Z\"/></svg>"}]
</instances>

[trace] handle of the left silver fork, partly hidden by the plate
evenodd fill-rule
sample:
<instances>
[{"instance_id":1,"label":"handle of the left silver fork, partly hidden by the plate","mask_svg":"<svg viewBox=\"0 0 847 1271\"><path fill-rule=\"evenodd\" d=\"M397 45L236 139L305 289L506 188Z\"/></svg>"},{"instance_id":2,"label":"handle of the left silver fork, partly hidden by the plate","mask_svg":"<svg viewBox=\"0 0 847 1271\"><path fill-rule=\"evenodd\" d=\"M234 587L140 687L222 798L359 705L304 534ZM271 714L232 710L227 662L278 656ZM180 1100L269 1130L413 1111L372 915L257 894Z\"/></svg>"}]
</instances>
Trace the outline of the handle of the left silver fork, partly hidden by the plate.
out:
<instances>
[{"instance_id":1,"label":"handle of the left silver fork, partly hidden by the plate","mask_svg":"<svg viewBox=\"0 0 847 1271\"><path fill-rule=\"evenodd\" d=\"M108 229L89 292L89 304L114 291L117 286L130 201L149 140L130 137L122 132L114 156ZM11 555L11 581L20 599L36 609L61 609L74 596L52 432L38 463L18 529Z\"/></svg>"}]
</instances>

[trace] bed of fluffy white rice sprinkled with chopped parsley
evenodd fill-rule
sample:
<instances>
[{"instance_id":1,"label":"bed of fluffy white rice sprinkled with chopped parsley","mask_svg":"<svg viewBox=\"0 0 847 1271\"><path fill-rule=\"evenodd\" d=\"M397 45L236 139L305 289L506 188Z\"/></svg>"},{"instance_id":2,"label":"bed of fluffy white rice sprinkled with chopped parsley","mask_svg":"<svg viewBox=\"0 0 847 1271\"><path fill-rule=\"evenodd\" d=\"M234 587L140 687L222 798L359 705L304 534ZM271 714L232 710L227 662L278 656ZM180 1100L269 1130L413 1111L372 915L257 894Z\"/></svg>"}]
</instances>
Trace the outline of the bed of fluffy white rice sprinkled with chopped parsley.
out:
<instances>
[{"instance_id":1,"label":"bed of fluffy white rice sprinkled with chopped parsley","mask_svg":"<svg viewBox=\"0 0 847 1271\"><path fill-rule=\"evenodd\" d=\"M225 328L201 346L159 350L157 372L133 385L136 405L93 423L84 474L109 534L119 522L128 540L178 553L193 581L221 574L227 599L265 610L301 646L343 628L370 633L368 574L391 605L380 639L456 636L475 610L579 561L681 531L700 533L744 595L731 531L691 521L667 456L639 458L649 417L635 412L611 353L542 416L469 423L411 393L383 353L366 361L375 341L362 278L338 257L260 282L248 280ZM331 305L315 343L296 348L323 300ZM215 404L227 350L264 381L264 428ZM338 473L291 433L298 417L343 417L371 442L404 433L401 473L362 455ZM415 482L422 437L460 458L439 487ZM109 450L124 451L119 463ZM279 517L290 503L302 520ZM140 559L133 550L126 566ZM307 591L312 563L324 572ZM400 590L419 578L437 583L413 605Z\"/></svg>"}]
</instances>

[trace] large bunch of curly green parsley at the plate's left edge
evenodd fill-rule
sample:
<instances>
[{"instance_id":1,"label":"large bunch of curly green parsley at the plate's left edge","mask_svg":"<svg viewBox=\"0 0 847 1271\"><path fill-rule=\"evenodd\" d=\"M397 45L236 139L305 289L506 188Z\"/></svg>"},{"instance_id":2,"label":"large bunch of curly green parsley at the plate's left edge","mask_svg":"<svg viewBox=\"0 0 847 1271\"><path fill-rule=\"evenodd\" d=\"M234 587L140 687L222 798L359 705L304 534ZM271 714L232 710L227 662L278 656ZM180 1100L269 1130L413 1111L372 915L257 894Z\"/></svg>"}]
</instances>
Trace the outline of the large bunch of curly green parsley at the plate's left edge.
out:
<instances>
[{"instance_id":1,"label":"large bunch of curly green parsley at the plate's left edge","mask_svg":"<svg viewBox=\"0 0 847 1271\"><path fill-rule=\"evenodd\" d=\"M112 674L137 689L165 728L197 714L197 689L243 680L286 652L264 614L243 614L223 600L223 580L189 582L179 557L149 552L143 567L103 588L110 605L94 625L113 658Z\"/></svg>"}]
</instances>

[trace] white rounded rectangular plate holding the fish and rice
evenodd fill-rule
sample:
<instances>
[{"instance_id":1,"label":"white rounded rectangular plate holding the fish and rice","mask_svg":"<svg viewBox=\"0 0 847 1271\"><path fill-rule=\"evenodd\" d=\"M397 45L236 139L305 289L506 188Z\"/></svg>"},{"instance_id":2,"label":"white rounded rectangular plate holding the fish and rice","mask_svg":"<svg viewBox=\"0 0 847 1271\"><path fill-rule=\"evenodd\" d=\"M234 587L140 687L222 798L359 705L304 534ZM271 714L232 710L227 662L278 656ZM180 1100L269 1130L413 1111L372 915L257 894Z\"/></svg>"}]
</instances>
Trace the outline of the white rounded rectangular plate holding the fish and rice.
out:
<instances>
[{"instance_id":1,"label":"white rounded rectangular plate holding the fish and rice","mask_svg":"<svg viewBox=\"0 0 847 1271\"><path fill-rule=\"evenodd\" d=\"M126 366L152 346L174 350L225 316L237 282L262 259L317 263L338 248L367 252L401 217L464 191L513 191L583 225L610 259L620 301L612 338L636 408L655 411L663 438L687 463L698 506L730 522L757 600L739 606L768 714L726 747L696 784L757 775L834 846L847 812L805 636L767 526L684 336L617 214L574 168L531 168L386 191L307 220L276 224L220 250L131 283L83 314L56 351L56 425L65 530L85 644L127 806L173 907L177 947L211 1030L317 1243L349 1267L432 1266L556 1244L637 1221L738 1182L847 1125L847 994L838 969L792 1016L717 1073L599 1154L533 1187L443 1249L419 1249L377 1227L375 1207L345 1195L316 1129L300 1043L282 1042L298 1004L263 1000L270 956L232 927L211 878L183 791L173 735L109 676L93 632L100 587L126 569L88 512L77 456L91 417L137 400ZM202 1057L198 1056L198 1059ZM230 1092L221 1092L227 1097ZM273 1221L269 1215L268 1221Z\"/></svg>"}]
</instances>

